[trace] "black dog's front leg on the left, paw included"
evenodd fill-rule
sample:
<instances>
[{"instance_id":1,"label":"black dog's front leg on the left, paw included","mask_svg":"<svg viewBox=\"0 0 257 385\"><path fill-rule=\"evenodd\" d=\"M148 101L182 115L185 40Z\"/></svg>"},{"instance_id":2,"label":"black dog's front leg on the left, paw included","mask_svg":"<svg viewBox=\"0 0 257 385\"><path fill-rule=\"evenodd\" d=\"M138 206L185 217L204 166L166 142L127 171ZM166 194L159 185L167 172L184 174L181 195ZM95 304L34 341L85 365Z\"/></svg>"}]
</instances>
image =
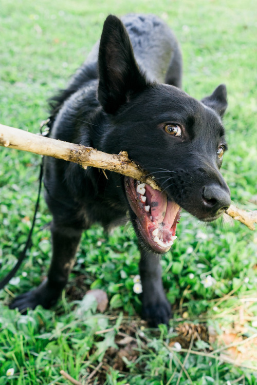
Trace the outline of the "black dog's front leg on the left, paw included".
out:
<instances>
[{"instance_id":1,"label":"black dog's front leg on the left, paw included","mask_svg":"<svg viewBox=\"0 0 257 385\"><path fill-rule=\"evenodd\" d=\"M10 309L17 307L23 312L28 308L34 309L37 305L49 309L57 302L74 265L81 233L82 230L51 224L52 259L47 279L35 290L17 296Z\"/></svg>"}]
</instances>

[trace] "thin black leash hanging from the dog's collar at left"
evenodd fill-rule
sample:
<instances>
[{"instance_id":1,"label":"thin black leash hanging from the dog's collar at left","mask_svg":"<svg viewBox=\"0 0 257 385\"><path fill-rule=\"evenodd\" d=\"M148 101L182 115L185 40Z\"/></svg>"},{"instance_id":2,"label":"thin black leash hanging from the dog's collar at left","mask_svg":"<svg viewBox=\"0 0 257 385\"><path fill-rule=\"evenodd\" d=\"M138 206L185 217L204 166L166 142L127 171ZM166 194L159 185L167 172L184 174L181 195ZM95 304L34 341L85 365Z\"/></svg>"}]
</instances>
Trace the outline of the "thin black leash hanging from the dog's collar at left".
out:
<instances>
[{"instance_id":1,"label":"thin black leash hanging from the dog's collar at left","mask_svg":"<svg viewBox=\"0 0 257 385\"><path fill-rule=\"evenodd\" d=\"M48 123L49 122L50 122L50 118L45 120L45 121L43 121L41 123L41 125L40 125L40 134L42 136L47 137L49 135L49 132L50 132L50 128L48 127ZM45 127L44 131L43 131L43 127ZM5 285L7 285L7 283L14 277L14 275L16 274L17 270L19 269L19 267L21 266L23 260L26 257L27 250L31 247L31 236L32 236L33 228L34 228L34 224L35 224L36 213L38 212L38 209L39 209L40 193L41 193L42 179L43 179L43 163L44 163L44 157L42 157L42 162L41 162L41 165L40 165L38 199L36 200L35 210L34 210L34 217L33 217L33 221L32 221L32 224L31 224L31 227L30 227L30 230L29 230L29 235L28 235L28 238L27 238L27 242L26 242L26 244L24 246L23 251L20 253L20 257L17 260L15 266L11 269L11 271L7 274L7 276L5 276L5 278L2 281L0 281L0 290L2 288L4 288Z\"/></svg>"}]
</instances>

